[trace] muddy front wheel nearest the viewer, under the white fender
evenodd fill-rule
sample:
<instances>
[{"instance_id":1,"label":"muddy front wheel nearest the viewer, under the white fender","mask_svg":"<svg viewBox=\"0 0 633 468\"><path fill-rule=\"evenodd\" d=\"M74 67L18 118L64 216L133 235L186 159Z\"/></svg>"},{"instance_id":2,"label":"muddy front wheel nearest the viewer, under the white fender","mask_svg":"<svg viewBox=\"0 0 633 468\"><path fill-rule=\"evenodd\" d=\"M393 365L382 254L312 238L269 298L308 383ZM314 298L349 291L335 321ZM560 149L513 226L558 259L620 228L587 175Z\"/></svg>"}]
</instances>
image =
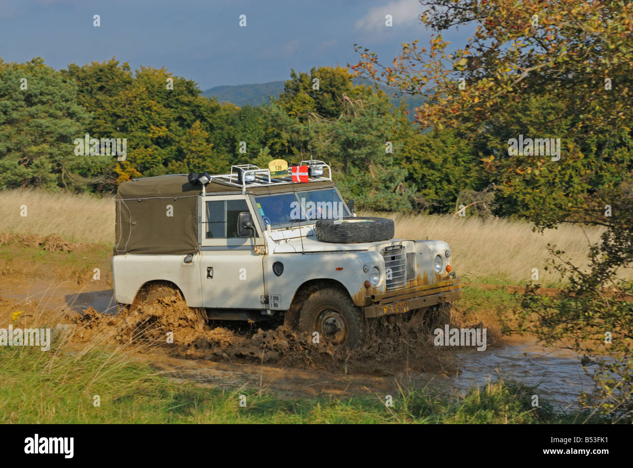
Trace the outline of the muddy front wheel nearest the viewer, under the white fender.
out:
<instances>
[{"instance_id":1,"label":"muddy front wheel nearest the viewer, under the white fender","mask_svg":"<svg viewBox=\"0 0 633 468\"><path fill-rule=\"evenodd\" d=\"M354 348L363 338L365 316L347 291L320 289L303 303L299 330L310 334L318 332L334 344Z\"/></svg>"}]
</instances>

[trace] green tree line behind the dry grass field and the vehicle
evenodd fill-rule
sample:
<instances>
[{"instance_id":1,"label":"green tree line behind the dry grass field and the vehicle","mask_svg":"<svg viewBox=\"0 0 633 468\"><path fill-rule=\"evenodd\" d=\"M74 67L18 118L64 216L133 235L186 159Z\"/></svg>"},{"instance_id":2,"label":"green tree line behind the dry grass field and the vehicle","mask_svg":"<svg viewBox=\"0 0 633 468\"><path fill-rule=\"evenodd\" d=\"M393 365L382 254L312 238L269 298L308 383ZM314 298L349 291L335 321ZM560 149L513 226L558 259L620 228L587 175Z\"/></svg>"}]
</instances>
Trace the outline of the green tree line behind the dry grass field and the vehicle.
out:
<instances>
[{"instance_id":1,"label":"green tree line behind the dry grass field and the vehicle","mask_svg":"<svg viewBox=\"0 0 633 468\"><path fill-rule=\"evenodd\" d=\"M111 193L135 177L298 162L310 155L308 118L313 157L329 162L357 207L452 212L460 193L490 185L494 174L460 131L422 131L392 96L352 78L344 67L292 70L280 96L239 108L165 68L0 59L0 188ZM125 139L125 159L77 154L85 135Z\"/></svg>"}]
</instances>

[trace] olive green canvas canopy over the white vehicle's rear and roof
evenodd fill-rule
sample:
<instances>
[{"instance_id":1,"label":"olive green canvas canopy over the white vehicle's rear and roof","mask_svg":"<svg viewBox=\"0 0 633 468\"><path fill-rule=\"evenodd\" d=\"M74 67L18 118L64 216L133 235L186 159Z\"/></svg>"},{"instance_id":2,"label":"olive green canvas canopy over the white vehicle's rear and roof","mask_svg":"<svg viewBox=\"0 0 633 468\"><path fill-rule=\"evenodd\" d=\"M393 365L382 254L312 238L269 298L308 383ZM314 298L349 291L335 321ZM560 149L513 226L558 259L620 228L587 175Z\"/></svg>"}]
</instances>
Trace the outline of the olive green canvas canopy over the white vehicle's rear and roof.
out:
<instances>
[{"instance_id":1,"label":"olive green canvas canopy over the white vehicle's rear and roof","mask_svg":"<svg viewBox=\"0 0 633 468\"><path fill-rule=\"evenodd\" d=\"M334 187L330 180L310 183L246 186L246 193L266 195ZM242 193L242 188L211 181L211 194ZM114 254L194 254L198 250L198 197L202 185L186 174L146 177L123 182L116 191Z\"/></svg>"}]
</instances>

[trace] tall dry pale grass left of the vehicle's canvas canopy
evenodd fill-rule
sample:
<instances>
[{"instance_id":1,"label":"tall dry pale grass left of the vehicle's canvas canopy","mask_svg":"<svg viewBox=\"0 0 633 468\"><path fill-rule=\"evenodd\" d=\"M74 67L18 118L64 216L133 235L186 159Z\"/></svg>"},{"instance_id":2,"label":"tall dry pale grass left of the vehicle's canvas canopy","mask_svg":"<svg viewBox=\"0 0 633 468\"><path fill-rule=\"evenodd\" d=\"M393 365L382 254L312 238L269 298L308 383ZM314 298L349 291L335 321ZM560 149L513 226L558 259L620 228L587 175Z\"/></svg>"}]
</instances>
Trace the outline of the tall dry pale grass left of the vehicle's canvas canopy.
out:
<instances>
[{"instance_id":1,"label":"tall dry pale grass left of the vehicle's canvas canopy","mask_svg":"<svg viewBox=\"0 0 633 468\"><path fill-rule=\"evenodd\" d=\"M56 233L70 242L111 245L115 238L115 198L42 190L0 191L0 232ZM26 205L27 216L20 216Z\"/></svg>"}]
</instances>

